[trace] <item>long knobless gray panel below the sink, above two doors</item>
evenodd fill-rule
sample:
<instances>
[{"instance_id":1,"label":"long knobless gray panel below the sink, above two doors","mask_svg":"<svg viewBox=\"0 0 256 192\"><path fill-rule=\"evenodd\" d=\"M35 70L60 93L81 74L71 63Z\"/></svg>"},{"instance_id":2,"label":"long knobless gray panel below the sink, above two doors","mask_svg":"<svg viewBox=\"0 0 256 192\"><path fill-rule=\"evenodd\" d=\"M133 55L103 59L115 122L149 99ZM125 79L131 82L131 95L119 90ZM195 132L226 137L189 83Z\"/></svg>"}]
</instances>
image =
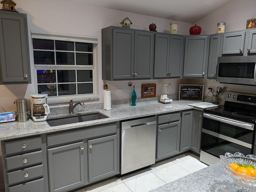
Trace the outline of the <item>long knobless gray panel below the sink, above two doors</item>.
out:
<instances>
[{"instance_id":1,"label":"long knobless gray panel below the sink, above two doors","mask_svg":"<svg viewBox=\"0 0 256 192\"><path fill-rule=\"evenodd\" d=\"M100 125L97 127L89 127L77 131L67 131L64 133L47 135L47 146L71 143L93 137L101 137L104 135L114 134L116 134L116 123L109 125Z\"/></svg>"}]
</instances>

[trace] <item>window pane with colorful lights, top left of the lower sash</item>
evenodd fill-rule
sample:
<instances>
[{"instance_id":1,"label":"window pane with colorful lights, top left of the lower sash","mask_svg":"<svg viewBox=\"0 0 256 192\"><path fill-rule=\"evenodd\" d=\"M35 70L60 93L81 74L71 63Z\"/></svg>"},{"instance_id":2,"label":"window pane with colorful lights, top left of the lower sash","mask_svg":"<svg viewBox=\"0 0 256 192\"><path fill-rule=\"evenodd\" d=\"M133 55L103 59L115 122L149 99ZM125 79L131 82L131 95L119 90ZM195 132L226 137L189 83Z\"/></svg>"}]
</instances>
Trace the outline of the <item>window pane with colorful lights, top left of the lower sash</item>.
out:
<instances>
[{"instance_id":1,"label":"window pane with colorful lights, top left of the lower sash","mask_svg":"<svg viewBox=\"0 0 256 192\"><path fill-rule=\"evenodd\" d=\"M37 83L56 83L55 70L36 70Z\"/></svg>"}]
</instances>

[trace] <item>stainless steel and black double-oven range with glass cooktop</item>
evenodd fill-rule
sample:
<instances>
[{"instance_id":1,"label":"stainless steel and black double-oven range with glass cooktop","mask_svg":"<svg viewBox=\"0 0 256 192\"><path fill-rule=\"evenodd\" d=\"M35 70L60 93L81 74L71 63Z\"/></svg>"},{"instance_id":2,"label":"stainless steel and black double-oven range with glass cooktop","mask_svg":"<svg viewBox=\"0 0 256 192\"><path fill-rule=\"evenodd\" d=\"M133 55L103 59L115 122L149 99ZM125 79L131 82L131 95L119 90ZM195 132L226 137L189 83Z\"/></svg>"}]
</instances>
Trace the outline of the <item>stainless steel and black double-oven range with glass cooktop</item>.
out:
<instances>
[{"instance_id":1,"label":"stainless steel and black double-oven range with glass cooktop","mask_svg":"<svg viewBox=\"0 0 256 192\"><path fill-rule=\"evenodd\" d=\"M256 95L226 91L224 101L204 109L200 161L208 165L226 152L256 154Z\"/></svg>"}]
</instances>

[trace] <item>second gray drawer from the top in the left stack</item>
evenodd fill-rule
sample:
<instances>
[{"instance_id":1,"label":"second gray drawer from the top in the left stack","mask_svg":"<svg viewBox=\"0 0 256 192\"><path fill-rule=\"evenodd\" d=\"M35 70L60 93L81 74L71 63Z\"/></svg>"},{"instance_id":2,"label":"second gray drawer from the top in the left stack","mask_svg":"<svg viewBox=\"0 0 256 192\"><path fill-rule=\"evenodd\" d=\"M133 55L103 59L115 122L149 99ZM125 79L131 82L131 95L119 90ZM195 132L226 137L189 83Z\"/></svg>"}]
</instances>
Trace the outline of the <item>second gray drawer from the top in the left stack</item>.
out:
<instances>
[{"instance_id":1,"label":"second gray drawer from the top in the left stack","mask_svg":"<svg viewBox=\"0 0 256 192\"><path fill-rule=\"evenodd\" d=\"M30 152L5 158L7 170L42 163L42 151Z\"/></svg>"}]
</instances>

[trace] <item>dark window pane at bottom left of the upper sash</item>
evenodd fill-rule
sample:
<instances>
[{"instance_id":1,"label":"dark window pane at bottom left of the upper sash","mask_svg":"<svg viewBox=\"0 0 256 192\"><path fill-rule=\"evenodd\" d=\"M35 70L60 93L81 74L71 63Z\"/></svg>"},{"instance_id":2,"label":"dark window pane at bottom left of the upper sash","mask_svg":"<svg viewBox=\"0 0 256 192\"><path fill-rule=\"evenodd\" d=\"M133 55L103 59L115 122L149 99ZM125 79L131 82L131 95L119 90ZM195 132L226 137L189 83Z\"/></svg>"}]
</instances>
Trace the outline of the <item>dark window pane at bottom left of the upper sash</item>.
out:
<instances>
[{"instance_id":1,"label":"dark window pane at bottom left of the upper sash","mask_svg":"<svg viewBox=\"0 0 256 192\"><path fill-rule=\"evenodd\" d=\"M34 51L35 64L54 65L54 52L52 51Z\"/></svg>"}]
</instances>

